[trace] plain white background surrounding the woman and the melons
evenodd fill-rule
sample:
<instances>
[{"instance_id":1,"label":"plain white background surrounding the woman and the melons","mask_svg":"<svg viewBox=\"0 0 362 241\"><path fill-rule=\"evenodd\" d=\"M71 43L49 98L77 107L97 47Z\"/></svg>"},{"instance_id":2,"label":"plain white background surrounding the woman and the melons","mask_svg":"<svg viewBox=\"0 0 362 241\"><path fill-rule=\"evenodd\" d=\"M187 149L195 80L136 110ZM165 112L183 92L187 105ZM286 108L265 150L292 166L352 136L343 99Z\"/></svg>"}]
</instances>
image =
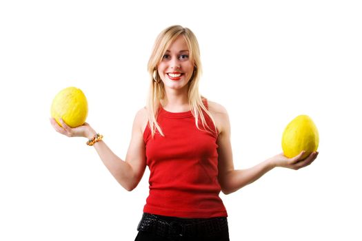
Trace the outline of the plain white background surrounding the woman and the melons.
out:
<instances>
[{"instance_id":1,"label":"plain white background surrounding the woman and the melons","mask_svg":"<svg viewBox=\"0 0 362 241\"><path fill-rule=\"evenodd\" d=\"M312 165L221 194L230 239L362 239L359 1L236 2L1 1L0 240L134 240L149 171L125 191L86 139L54 132L50 105L81 88L124 158L153 41L174 24L199 39L201 93L228 109L236 168L280 153L299 114L319 128Z\"/></svg>"}]
</instances>

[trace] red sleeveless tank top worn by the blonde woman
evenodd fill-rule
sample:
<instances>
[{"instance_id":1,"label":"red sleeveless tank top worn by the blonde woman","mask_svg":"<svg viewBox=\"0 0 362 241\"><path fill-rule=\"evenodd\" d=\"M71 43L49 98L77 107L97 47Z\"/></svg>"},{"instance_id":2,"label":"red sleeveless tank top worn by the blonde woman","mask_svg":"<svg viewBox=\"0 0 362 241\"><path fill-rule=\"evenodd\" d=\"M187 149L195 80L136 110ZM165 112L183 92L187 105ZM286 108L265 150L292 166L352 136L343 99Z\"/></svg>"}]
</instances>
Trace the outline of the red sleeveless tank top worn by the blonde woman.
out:
<instances>
[{"instance_id":1,"label":"red sleeveless tank top worn by the blonde woman","mask_svg":"<svg viewBox=\"0 0 362 241\"><path fill-rule=\"evenodd\" d=\"M205 119L213 129L207 114ZM150 127L143 133L150 169L143 211L179 218L228 216L219 197L217 134L197 129L191 111L160 108L157 122L164 136L156 132L152 138ZM201 123L199 127L203 129Z\"/></svg>"}]
</instances>

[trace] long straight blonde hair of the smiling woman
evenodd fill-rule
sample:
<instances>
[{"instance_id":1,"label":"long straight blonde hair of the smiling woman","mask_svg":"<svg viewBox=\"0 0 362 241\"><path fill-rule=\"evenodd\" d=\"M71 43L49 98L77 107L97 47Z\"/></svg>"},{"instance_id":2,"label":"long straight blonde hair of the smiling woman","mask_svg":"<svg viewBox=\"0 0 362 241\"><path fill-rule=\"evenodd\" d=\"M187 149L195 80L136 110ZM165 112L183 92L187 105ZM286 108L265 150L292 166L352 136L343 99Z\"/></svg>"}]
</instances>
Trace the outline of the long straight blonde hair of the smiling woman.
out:
<instances>
[{"instance_id":1,"label":"long straight blonde hair of the smiling woman","mask_svg":"<svg viewBox=\"0 0 362 241\"><path fill-rule=\"evenodd\" d=\"M161 105L161 100L165 96L165 87L162 81L157 81L160 79L157 72L157 65L161 62L163 54L167 50L168 46L177 39L179 36L183 36L188 45L190 52L190 60L194 62L194 73L191 76L190 81L188 82L188 102L190 104L190 109L192 115L195 118L195 124L198 129L199 120L203 125L203 129L208 129L210 132L217 132L214 119L212 118L210 112L205 107L202 101L202 97L199 94L199 79L201 76L201 59L200 59L200 49L199 43L194 33L188 29L183 28L181 25L172 25L168 28L165 28L158 36L154 42L152 49L152 54L148 61L148 72L150 74L150 92L148 95L147 109L148 109L148 123L152 132L152 136L156 133L156 130L163 135L162 129L157 123L157 115L159 114L159 107ZM211 119L214 124L215 129L211 129L205 121L205 112Z\"/></svg>"}]
</instances>

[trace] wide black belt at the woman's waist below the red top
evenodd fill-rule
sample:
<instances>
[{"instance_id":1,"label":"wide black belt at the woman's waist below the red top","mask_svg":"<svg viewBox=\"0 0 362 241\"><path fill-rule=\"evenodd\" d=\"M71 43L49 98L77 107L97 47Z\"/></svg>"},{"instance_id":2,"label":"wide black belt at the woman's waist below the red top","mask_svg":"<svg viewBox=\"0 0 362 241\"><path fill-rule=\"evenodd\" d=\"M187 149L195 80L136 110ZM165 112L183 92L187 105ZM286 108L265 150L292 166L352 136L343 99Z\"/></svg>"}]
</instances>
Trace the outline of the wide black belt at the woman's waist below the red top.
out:
<instances>
[{"instance_id":1,"label":"wide black belt at the woman's waist below the red top","mask_svg":"<svg viewBox=\"0 0 362 241\"><path fill-rule=\"evenodd\" d=\"M143 213L138 231L156 233L162 237L205 237L228 229L228 219L221 218L171 218Z\"/></svg>"}]
</instances>

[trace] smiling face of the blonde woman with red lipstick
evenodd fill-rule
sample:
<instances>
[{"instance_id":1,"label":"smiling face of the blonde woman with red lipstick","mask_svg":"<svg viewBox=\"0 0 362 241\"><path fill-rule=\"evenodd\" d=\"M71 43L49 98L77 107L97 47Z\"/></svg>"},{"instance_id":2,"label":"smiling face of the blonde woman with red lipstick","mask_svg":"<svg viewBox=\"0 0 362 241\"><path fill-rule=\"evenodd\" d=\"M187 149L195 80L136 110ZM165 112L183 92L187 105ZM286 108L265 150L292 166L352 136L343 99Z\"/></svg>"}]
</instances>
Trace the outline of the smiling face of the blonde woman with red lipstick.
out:
<instances>
[{"instance_id":1,"label":"smiling face of the blonde woman with red lipstick","mask_svg":"<svg viewBox=\"0 0 362 241\"><path fill-rule=\"evenodd\" d=\"M194 71L188 44L179 36L163 54L157 70L165 88L180 90L188 84Z\"/></svg>"}]
</instances>

